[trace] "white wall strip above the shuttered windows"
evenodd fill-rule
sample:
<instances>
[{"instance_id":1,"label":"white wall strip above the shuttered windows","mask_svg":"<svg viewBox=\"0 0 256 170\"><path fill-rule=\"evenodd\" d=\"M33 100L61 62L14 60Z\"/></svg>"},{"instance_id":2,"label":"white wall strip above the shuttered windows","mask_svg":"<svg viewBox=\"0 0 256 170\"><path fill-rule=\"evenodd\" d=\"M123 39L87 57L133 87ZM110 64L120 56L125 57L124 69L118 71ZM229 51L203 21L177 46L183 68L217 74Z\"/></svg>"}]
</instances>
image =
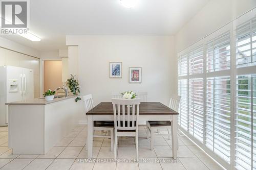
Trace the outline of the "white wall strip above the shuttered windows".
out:
<instances>
[{"instance_id":1,"label":"white wall strip above the shuttered windows","mask_svg":"<svg viewBox=\"0 0 256 170\"><path fill-rule=\"evenodd\" d=\"M255 0L211 0L175 35L176 52L184 50L255 7Z\"/></svg>"}]
</instances>

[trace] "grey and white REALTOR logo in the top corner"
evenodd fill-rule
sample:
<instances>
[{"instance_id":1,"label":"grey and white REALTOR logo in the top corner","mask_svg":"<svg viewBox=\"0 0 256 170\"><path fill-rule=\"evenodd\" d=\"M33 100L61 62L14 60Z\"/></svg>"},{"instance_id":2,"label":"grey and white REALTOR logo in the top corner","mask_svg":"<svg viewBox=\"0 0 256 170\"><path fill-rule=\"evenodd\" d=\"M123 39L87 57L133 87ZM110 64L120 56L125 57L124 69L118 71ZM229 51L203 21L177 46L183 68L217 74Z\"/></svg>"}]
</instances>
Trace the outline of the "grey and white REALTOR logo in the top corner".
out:
<instances>
[{"instance_id":1,"label":"grey and white REALTOR logo in the top corner","mask_svg":"<svg viewBox=\"0 0 256 170\"><path fill-rule=\"evenodd\" d=\"M29 0L0 0L1 34L27 34Z\"/></svg>"}]
</instances>

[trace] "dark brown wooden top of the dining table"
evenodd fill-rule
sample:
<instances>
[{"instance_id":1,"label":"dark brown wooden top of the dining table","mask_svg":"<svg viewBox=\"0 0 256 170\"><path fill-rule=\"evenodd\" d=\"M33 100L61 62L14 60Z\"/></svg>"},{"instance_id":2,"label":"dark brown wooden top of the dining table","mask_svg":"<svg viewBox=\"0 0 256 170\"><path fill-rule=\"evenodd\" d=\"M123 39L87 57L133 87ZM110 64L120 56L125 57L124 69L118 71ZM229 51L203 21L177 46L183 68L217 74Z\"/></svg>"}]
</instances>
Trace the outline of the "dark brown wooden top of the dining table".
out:
<instances>
[{"instance_id":1,"label":"dark brown wooden top of the dining table","mask_svg":"<svg viewBox=\"0 0 256 170\"><path fill-rule=\"evenodd\" d=\"M127 109L125 109L126 113ZM122 109L121 109L122 112ZM113 105L111 102L101 102L86 113L87 115L113 115ZM141 102L140 115L177 115L178 112L170 109L160 102Z\"/></svg>"}]
</instances>

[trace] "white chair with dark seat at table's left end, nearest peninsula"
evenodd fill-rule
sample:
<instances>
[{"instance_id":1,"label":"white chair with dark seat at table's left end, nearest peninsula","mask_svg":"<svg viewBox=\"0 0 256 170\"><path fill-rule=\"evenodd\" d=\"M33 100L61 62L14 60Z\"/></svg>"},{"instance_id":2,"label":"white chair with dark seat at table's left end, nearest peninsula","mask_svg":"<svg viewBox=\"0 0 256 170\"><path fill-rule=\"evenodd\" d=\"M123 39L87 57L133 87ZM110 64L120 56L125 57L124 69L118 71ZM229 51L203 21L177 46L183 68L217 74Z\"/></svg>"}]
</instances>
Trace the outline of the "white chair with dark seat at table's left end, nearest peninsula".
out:
<instances>
[{"instance_id":1,"label":"white chair with dark seat at table's left end, nearest peninsula","mask_svg":"<svg viewBox=\"0 0 256 170\"><path fill-rule=\"evenodd\" d=\"M93 105L92 94L82 96L84 102L84 109L86 112L90 111ZM95 131L107 131L110 135L95 135L93 137L111 138L111 152L114 151L114 122L113 121L94 121L93 132ZM86 145L87 149L87 145Z\"/></svg>"}]
</instances>

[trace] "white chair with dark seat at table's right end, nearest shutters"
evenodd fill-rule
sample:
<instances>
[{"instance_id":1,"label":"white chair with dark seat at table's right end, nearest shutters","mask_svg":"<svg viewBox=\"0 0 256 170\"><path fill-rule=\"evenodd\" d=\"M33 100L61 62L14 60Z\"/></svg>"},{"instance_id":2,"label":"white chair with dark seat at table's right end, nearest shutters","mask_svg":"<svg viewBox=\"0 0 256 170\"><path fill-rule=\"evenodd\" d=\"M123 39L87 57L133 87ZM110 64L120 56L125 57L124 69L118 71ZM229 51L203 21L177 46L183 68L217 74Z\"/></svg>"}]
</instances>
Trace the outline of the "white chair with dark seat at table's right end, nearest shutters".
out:
<instances>
[{"instance_id":1,"label":"white chair with dark seat at table's right end, nearest shutters","mask_svg":"<svg viewBox=\"0 0 256 170\"><path fill-rule=\"evenodd\" d=\"M180 96L173 96L170 98L169 108L173 109L174 111L178 111L180 105ZM170 128L172 128L172 123L170 121L147 121L146 122L147 132L146 136L147 139L151 134L151 150L154 148L154 136L168 136L170 139ZM159 133L159 129L167 129L168 134ZM156 132L156 133L155 133ZM173 140L173 139L172 139Z\"/></svg>"}]
</instances>

